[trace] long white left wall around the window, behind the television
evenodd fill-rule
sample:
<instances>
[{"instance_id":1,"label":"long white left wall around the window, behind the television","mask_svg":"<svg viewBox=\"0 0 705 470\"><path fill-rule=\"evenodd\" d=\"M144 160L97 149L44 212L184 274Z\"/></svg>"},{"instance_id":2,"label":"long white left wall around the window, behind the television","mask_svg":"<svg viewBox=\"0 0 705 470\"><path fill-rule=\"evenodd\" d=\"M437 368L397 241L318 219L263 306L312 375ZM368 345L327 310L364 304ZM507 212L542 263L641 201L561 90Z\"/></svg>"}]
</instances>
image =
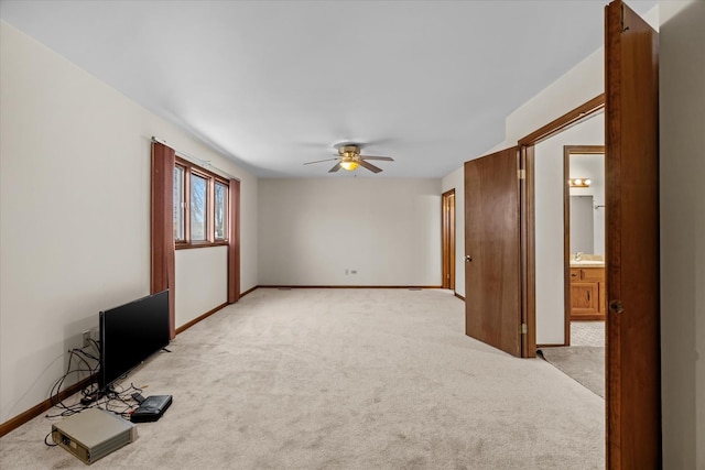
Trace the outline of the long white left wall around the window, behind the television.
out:
<instances>
[{"instance_id":1,"label":"long white left wall around the window, behind the television","mask_svg":"<svg viewBox=\"0 0 705 470\"><path fill-rule=\"evenodd\" d=\"M6 22L0 97L4 423L47 397L100 309L149 293L152 135L241 179L243 291L257 283L257 179Z\"/></svg>"}]
</instances>

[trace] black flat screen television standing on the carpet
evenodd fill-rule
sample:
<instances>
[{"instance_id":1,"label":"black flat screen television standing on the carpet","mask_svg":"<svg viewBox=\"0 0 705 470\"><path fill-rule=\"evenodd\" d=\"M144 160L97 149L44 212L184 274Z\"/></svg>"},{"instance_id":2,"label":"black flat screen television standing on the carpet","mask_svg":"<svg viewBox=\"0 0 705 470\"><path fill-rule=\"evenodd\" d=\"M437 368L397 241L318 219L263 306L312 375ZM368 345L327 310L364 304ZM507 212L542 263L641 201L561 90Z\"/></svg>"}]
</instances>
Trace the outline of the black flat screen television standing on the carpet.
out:
<instances>
[{"instance_id":1,"label":"black flat screen television standing on the carpet","mask_svg":"<svg viewBox=\"0 0 705 470\"><path fill-rule=\"evenodd\" d=\"M100 311L98 389L111 391L126 375L170 340L169 289Z\"/></svg>"}]
</instances>

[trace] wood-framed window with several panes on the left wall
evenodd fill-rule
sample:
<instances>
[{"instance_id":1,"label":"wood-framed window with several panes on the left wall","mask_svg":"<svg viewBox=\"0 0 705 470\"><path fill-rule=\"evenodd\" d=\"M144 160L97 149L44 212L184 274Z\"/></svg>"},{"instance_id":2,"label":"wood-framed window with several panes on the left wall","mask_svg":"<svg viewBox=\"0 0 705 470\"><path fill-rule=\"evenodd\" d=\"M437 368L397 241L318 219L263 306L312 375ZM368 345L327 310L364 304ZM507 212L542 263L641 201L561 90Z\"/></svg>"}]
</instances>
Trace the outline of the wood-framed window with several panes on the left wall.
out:
<instances>
[{"instance_id":1,"label":"wood-framed window with several panes on the left wall","mask_svg":"<svg viewBox=\"0 0 705 470\"><path fill-rule=\"evenodd\" d=\"M228 242L227 179L176 159L174 166L174 240L176 248Z\"/></svg>"}]
</instances>

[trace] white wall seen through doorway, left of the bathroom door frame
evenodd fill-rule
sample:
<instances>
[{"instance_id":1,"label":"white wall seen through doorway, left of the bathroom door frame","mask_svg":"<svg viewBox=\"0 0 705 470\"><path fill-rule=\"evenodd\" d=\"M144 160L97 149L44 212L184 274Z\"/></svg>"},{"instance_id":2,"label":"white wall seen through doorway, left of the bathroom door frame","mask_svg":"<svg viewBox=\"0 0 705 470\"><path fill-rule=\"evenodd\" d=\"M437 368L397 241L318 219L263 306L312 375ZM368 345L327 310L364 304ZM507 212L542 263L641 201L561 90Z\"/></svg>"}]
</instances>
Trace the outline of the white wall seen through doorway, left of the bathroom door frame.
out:
<instances>
[{"instance_id":1,"label":"white wall seen through doorway, left of the bathroom door frame","mask_svg":"<svg viewBox=\"0 0 705 470\"><path fill-rule=\"evenodd\" d=\"M536 345L564 343L563 146L604 144L600 113L535 146Z\"/></svg>"}]
</instances>

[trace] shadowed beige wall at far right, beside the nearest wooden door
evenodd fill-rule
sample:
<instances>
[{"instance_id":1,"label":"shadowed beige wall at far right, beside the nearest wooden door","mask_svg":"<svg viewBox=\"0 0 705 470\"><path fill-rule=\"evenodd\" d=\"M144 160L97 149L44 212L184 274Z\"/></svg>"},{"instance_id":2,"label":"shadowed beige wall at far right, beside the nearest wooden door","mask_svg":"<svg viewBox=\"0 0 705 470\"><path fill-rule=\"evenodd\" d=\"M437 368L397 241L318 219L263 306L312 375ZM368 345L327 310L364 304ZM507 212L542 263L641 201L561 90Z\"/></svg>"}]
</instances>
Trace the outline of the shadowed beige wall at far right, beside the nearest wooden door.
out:
<instances>
[{"instance_id":1,"label":"shadowed beige wall at far right, beside the nearest wooden door","mask_svg":"<svg viewBox=\"0 0 705 470\"><path fill-rule=\"evenodd\" d=\"M663 468L705 469L705 2L661 2Z\"/></svg>"}]
</instances>

